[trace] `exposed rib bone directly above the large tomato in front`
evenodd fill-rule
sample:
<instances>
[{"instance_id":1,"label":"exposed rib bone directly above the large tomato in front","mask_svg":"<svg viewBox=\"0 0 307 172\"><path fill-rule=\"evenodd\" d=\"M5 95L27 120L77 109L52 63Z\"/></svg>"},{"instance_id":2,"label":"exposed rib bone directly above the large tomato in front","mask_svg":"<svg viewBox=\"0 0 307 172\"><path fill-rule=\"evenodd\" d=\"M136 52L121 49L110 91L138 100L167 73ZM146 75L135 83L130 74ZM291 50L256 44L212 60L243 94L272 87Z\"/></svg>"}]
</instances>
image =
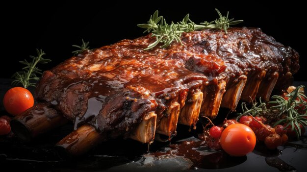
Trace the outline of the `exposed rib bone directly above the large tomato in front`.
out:
<instances>
[{"instance_id":1,"label":"exposed rib bone directly above the large tomato in front","mask_svg":"<svg viewBox=\"0 0 307 172\"><path fill-rule=\"evenodd\" d=\"M223 96L222 99L222 103L221 106L230 109L231 111L233 111L239 100L240 100L240 96L242 94L242 91L244 89L245 83L246 83L246 76L240 76L239 77L239 81L235 84L229 83L227 84L228 89L226 91L226 93Z\"/></svg>"}]
</instances>

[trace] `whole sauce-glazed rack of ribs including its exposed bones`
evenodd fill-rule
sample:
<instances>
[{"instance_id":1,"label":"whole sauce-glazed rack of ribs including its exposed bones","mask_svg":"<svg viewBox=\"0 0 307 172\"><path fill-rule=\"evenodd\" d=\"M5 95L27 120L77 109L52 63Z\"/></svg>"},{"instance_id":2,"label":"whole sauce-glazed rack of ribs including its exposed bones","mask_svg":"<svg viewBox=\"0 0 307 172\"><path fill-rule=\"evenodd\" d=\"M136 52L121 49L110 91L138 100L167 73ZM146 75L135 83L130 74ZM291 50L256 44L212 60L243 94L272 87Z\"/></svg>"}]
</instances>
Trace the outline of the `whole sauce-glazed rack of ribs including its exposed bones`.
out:
<instances>
[{"instance_id":1,"label":"whole sauce-glazed rack of ribs including its exposed bones","mask_svg":"<svg viewBox=\"0 0 307 172\"><path fill-rule=\"evenodd\" d=\"M36 88L44 105L16 117L14 132L34 137L66 117L77 130L58 145L74 154L118 136L151 143L156 133L175 135L177 123L195 125L199 114L215 118L220 105L234 110L240 98L268 99L299 69L295 50L256 28L195 31L181 40L144 50L155 41L148 35L64 61L44 73ZM48 118L52 108L64 117ZM42 116L42 126L32 128Z\"/></svg>"}]
</instances>

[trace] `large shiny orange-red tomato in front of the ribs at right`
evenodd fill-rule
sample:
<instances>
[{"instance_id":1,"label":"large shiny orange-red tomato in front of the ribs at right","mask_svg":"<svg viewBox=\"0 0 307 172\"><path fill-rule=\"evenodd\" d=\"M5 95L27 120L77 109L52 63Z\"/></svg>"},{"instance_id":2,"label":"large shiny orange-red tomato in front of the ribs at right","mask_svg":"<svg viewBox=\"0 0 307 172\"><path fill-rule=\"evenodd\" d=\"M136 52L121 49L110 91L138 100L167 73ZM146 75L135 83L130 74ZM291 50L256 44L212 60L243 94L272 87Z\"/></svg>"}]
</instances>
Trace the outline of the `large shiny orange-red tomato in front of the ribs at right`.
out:
<instances>
[{"instance_id":1,"label":"large shiny orange-red tomato in front of the ribs at right","mask_svg":"<svg viewBox=\"0 0 307 172\"><path fill-rule=\"evenodd\" d=\"M244 156L254 150L256 135L249 126L234 123L222 132L221 146L231 156Z\"/></svg>"}]
</instances>

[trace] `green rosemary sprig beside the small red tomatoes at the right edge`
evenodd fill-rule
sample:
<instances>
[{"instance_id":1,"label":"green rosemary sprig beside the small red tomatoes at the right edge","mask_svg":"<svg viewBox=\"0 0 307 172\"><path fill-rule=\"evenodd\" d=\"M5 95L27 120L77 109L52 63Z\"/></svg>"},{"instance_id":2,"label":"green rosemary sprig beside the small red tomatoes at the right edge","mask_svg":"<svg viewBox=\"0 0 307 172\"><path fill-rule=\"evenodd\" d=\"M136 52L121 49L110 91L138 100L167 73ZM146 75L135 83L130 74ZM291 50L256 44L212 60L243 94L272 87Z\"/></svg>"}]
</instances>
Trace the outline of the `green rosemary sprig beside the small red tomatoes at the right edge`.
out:
<instances>
[{"instance_id":1,"label":"green rosemary sprig beside the small red tomatoes at the right edge","mask_svg":"<svg viewBox=\"0 0 307 172\"><path fill-rule=\"evenodd\" d=\"M287 99L277 95L272 96L273 101L269 101L268 103L273 106L269 109L266 108L266 103L261 102L261 99L259 105L257 102L253 102L250 109L247 108L245 103L242 103L243 113L239 113L236 119L238 120L243 115L269 116L271 119L277 119L273 126L278 124L284 124L285 128L291 126L291 130L295 131L296 137L299 139L302 133L300 124L307 126L307 101L303 99L307 97L300 91L303 87L301 85L287 94L285 96ZM302 112L305 113L302 114Z\"/></svg>"}]
</instances>

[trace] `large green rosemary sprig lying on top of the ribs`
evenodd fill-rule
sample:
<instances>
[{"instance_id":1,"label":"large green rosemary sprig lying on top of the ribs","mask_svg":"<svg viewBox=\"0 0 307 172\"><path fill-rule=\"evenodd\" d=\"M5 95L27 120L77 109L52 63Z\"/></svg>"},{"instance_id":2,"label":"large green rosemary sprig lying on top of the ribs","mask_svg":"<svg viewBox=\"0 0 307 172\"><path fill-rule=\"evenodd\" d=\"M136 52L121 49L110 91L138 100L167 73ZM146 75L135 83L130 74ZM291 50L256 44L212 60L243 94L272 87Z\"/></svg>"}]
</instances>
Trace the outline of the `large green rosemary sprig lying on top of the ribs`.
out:
<instances>
[{"instance_id":1,"label":"large green rosemary sprig lying on top of the ribs","mask_svg":"<svg viewBox=\"0 0 307 172\"><path fill-rule=\"evenodd\" d=\"M170 25L166 23L166 20L163 16L158 16L158 11L155 11L153 15L150 17L147 24L137 25L141 28L145 28L145 32L152 33L152 37L156 38L156 41L150 44L146 49L152 49L159 43L163 43L162 48L168 47L174 40L179 42L182 45L180 40L180 36L183 32L190 32L194 30L203 30L206 28L218 28L224 29L227 34L227 29L230 25L236 25L243 20L233 21L234 19L228 19L229 12L227 12L226 17L222 16L219 10L215 9L219 15L219 19L216 19L212 22L204 22L200 25L194 24L189 19L189 14L187 14L181 22L177 22L176 24L172 22Z\"/></svg>"}]
</instances>

